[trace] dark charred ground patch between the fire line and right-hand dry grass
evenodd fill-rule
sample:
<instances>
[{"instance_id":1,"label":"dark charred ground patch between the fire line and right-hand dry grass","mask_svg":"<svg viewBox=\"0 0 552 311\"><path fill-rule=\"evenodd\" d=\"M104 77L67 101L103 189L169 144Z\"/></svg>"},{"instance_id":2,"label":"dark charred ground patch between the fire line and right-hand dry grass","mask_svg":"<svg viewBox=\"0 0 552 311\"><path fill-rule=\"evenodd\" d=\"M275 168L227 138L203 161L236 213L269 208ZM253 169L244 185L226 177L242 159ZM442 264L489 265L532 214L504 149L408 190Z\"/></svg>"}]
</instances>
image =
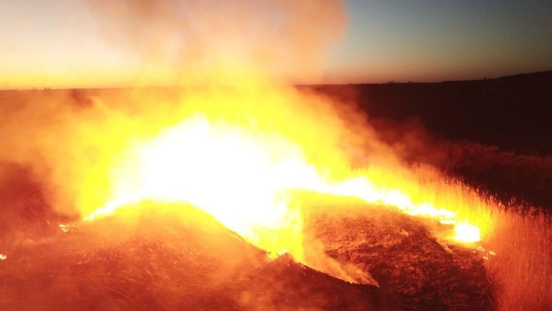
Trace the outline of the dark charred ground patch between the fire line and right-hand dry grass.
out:
<instances>
[{"instance_id":1,"label":"dark charred ground patch between the fire line and right-hand dry grass","mask_svg":"<svg viewBox=\"0 0 552 311\"><path fill-rule=\"evenodd\" d=\"M368 271L396 293L404 310L491 310L494 297L482 256L439 241L428 220L385 207L317 206L305 218L328 255Z\"/></svg>"}]
</instances>

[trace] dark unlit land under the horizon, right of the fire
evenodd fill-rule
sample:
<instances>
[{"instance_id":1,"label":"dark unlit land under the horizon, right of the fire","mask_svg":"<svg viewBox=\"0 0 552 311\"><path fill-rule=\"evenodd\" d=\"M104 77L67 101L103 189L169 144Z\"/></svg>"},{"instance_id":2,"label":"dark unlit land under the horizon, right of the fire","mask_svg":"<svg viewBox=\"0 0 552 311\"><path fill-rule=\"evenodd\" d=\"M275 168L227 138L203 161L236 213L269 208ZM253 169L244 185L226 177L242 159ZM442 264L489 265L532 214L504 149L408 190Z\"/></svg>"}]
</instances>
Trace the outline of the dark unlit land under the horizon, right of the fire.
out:
<instances>
[{"instance_id":1,"label":"dark unlit land under the horizon, right of the fire","mask_svg":"<svg viewBox=\"0 0 552 311\"><path fill-rule=\"evenodd\" d=\"M419 119L449 140L552 154L552 71L439 83L316 86L372 118Z\"/></svg>"}]
</instances>

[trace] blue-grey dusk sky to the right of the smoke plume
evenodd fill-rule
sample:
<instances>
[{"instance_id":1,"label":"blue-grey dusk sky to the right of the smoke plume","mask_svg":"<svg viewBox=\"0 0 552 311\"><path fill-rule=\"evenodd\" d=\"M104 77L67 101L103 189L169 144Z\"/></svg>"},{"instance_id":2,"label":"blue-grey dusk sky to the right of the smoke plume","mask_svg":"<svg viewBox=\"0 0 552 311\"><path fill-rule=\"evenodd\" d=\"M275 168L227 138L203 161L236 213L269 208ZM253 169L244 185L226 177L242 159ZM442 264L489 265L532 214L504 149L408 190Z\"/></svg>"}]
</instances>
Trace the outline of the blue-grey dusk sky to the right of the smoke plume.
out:
<instances>
[{"instance_id":1,"label":"blue-grey dusk sky to the right of the smoke plume","mask_svg":"<svg viewBox=\"0 0 552 311\"><path fill-rule=\"evenodd\" d=\"M330 70L353 81L440 81L552 70L552 1L347 1Z\"/></svg>"}]
</instances>

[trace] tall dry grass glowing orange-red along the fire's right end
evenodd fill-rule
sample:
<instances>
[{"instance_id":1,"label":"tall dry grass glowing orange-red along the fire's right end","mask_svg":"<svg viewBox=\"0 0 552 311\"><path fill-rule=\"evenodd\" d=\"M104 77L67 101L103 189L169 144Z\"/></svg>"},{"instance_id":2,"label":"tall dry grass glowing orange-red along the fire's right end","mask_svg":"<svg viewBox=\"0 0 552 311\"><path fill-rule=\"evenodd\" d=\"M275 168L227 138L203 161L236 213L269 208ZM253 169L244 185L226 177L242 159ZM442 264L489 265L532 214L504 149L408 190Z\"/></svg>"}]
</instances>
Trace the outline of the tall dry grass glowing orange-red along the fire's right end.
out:
<instances>
[{"instance_id":1,"label":"tall dry grass glowing orange-red along the fire's right end","mask_svg":"<svg viewBox=\"0 0 552 311\"><path fill-rule=\"evenodd\" d=\"M438 205L455 210L460 220L481 229L481 242L470 247L487 259L495 309L552 310L551 215L525 203L502 203L463 182L433 176L427 167L413 169L430 180L429 187L418 191L420 200L434 198Z\"/></svg>"}]
</instances>

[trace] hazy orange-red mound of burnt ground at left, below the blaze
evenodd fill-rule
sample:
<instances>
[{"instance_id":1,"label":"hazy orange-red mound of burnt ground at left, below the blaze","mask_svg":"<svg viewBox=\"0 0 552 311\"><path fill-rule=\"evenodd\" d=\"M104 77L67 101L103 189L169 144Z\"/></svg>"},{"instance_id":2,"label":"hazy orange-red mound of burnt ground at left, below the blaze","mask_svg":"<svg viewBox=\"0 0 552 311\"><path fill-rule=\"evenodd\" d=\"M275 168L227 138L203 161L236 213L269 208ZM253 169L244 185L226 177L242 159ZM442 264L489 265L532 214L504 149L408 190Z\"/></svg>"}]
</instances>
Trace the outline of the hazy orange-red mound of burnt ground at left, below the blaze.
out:
<instances>
[{"instance_id":1,"label":"hazy orange-red mound of burnt ground at left, below the blaze","mask_svg":"<svg viewBox=\"0 0 552 311\"><path fill-rule=\"evenodd\" d=\"M0 261L0 308L398 309L380 288L344 282L287 255L269 260L192 207L159 207L132 224L108 218L41 239L3 240L9 255Z\"/></svg>"}]
</instances>

